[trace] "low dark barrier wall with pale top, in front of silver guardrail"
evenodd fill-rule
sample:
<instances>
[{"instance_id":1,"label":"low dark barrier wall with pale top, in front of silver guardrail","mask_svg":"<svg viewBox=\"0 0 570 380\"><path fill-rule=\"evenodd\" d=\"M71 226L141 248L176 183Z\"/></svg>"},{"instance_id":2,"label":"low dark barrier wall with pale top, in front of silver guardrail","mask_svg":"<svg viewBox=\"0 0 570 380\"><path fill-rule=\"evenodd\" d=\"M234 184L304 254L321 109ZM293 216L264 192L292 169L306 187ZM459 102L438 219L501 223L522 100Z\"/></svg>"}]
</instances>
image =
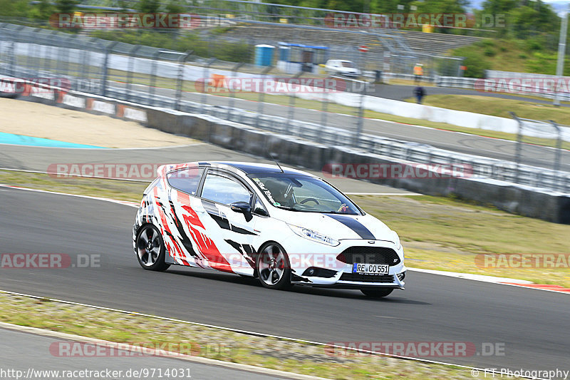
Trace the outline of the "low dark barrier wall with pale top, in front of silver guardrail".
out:
<instances>
[{"instance_id":1,"label":"low dark barrier wall with pale top, in front of silver guardrail","mask_svg":"<svg viewBox=\"0 0 570 380\"><path fill-rule=\"evenodd\" d=\"M58 96L55 96L58 93ZM63 102L61 91L54 91L53 97L36 96L29 93L22 98L28 101L52 106L81 109L83 101L73 99ZM267 157L276 153L280 163L298 165L312 170L322 170L331 163L410 163L397 158L366 153L345 147L327 147L292 136L256 130L246 125L220 120L210 115L192 115L177 111L139 106L124 101L74 93L75 98L85 98L85 104L104 101L115 105L114 117L133 120L133 115L143 124L169 133L179 133L190 138L222 145L225 148ZM71 98L68 98L71 99ZM129 111L125 114L125 110ZM87 112L99 112L83 108ZM136 111L136 112L135 112ZM133 113L134 112L134 113ZM520 215L536 217L549 222L570 224L570 196L558 192L547 192L524 185L505 183L482 178L395 178L377 179L374 183L403 188L429 195L455 194L465 199L494 205L502 210Z\"/></svg>"}]
</instances>

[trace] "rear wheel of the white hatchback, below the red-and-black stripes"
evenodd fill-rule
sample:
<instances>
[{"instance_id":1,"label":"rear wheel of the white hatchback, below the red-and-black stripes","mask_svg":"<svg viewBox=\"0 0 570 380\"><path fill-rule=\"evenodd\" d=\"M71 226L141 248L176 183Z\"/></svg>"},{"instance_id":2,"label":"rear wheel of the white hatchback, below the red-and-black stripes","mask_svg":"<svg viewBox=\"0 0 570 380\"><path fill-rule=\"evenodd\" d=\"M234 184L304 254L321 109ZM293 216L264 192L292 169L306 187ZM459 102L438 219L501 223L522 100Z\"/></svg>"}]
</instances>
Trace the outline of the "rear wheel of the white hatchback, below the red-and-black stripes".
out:
<instances>
[{"instance_id":1,"label":"rear wheel of the white hatchback, below the red-and-black stripes","mask_svg":"<svg viewBox=\"0 0 570 380\"><path fill-rule=\"evenodd\" d=\"M170 264L165 263L165 242L153 225L143 225L136 240L137 259L141 267L147 270L163 272Z\"/></svg>"}]
</instances>

